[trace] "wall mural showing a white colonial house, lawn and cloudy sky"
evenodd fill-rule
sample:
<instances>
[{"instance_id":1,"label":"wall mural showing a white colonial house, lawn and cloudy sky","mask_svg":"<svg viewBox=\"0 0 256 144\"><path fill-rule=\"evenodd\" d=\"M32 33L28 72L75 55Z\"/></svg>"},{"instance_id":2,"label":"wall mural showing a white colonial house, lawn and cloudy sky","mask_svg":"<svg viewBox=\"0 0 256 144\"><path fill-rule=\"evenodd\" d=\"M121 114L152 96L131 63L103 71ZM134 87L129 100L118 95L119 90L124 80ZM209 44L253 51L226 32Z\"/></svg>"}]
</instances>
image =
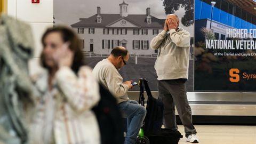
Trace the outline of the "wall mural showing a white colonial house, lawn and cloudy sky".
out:
<instances>
[{"instance_id":1,"label":"wall mural showing a white colonial house, lawn and cloudy sky","mask_svg":"<svg viewBox=\"0 0 256 144\"><path fill-rule=\"evenodd\" d=\"M180 17L181 27L194 36L193 1L113 0L113 1L54 1L54 25L68 25L77 31L87 65L92 68L107 58L113 47L126 47L131 57L119 72L124 81L148 79L151 90L157 91L154 69L158 51L150 48L150 41L163 30L166 13ZM193 91L193 37L191 37L189 81L187 90ZM132 90L139 90L135 86Z\"/></svg>"}]
</instances>

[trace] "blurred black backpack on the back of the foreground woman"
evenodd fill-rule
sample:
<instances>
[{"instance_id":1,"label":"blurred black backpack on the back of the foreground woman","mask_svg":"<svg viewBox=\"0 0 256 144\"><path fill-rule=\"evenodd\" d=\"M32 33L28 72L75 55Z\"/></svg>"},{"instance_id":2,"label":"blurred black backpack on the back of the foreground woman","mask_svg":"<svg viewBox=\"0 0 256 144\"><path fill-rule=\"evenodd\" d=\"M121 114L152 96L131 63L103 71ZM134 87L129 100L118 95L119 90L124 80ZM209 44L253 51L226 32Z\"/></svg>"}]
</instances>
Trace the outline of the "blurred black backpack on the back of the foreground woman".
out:
<instances>
[{"instance_id":1,"label":"blurred black backpack on the back of the foreground woman","mask_svg":"<svg viewBox=\"0 0 256 144\"><path fill-rule=\"evenodd\" d=\"M100 101L93 111L98 119L101 144L124 143L124 123L117 101L100 84Z\"/></svg>"}]
</instances>

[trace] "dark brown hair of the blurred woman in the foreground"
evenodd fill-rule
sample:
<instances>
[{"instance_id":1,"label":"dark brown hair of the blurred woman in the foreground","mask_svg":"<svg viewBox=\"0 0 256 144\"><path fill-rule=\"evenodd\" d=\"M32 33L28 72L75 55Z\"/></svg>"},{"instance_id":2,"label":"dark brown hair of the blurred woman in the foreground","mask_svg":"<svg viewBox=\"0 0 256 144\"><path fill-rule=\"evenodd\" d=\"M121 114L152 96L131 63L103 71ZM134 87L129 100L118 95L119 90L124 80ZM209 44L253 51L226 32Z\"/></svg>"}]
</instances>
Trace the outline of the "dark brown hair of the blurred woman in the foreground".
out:
<instances>
[{"instance_id":1,"label":"dark brown hair of the blurred woman in the foreground","mask_svg":"<svg viewBox=\"0 0 256 144\"><path fill-rule=\"evenodd\" d=\"M50 33L60 33L62 41L64 43L69 42L69 49L74 52L74 60L71 65L71 69L77 74L79 67L83 66L83 52L81 50L81 46L79 43L79 38L78 36L74 33L74 31L68 27L64 26L57 26L57 27L52 27L48 28L45 33L43 34L42 37L42 44L44 44L44 39L45 37L50 34ZM44 62L44 55L41 53L41 65L46 68L50 69L49 67L46 66Z\"/></svg>"}]
</instances>

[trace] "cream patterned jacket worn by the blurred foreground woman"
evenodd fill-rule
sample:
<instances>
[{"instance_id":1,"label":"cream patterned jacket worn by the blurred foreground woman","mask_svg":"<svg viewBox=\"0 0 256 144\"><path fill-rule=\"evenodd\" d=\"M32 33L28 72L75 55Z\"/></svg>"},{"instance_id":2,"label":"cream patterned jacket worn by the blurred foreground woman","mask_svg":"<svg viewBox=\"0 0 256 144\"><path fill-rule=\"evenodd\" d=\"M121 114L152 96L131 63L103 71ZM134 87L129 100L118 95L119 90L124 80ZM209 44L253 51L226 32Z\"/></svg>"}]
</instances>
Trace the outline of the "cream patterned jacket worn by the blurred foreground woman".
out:
<instances>
[{"instance_id":1,"label":"cream patterned jacket worn by the blurred foreground woman","mask_svg":"<svg viewBox=\"0 0 256 144\"><path fill-rule=\"evenodd\" d=\"M46 71L33 77L36 108L30 120L29 143L100 143L97 119L91 111L100 99L92 69L82 67L78 76L68 67L59 69L51 91L47 77Z\"/></svg>"}]
</instances>

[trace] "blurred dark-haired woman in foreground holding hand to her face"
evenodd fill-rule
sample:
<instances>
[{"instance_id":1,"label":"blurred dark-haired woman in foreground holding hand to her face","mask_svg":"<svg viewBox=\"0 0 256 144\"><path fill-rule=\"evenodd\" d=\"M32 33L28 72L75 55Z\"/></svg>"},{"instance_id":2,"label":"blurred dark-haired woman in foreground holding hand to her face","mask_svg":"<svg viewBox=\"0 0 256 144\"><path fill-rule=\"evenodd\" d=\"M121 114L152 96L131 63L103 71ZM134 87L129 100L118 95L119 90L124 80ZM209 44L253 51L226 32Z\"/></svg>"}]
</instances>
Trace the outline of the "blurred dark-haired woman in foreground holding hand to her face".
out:
<instances>
[{"instance_id":1,"label":"blurred dark-haired woman in foreground holding hand to her face","mask_svg":"<svg viewBox=\"0 0 256 144\"><path fill-rule=\"evenodd\" d=\"M42 37L44 73L33 76L36 109L29 127L30 143L100 143L91 108L100 99L92 70L83 66L73 30L53 27Z\"/></svg>"}]
</instances>

